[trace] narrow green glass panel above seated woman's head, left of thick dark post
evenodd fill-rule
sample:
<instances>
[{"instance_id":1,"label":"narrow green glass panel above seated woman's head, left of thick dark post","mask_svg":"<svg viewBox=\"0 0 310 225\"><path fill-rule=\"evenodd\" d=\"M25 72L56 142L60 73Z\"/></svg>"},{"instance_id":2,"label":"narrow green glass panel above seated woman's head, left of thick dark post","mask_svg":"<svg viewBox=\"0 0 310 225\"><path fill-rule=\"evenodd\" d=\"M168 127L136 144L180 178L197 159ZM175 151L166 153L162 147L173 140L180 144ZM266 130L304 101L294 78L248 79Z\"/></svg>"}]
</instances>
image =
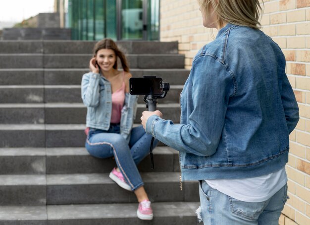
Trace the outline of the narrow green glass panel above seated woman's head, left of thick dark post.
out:
<instances>
[{"instance_id":1,"label":"narrow green glass panel above seated woman's head, left of thick dark post","mask_svg":"<svg viewBox=\"0 0 310 225\"><path fill-rule=\"evenodd\" d=\"M106 0L106 37L116 40L116 0Z\"/></svg>"}]
</instances>

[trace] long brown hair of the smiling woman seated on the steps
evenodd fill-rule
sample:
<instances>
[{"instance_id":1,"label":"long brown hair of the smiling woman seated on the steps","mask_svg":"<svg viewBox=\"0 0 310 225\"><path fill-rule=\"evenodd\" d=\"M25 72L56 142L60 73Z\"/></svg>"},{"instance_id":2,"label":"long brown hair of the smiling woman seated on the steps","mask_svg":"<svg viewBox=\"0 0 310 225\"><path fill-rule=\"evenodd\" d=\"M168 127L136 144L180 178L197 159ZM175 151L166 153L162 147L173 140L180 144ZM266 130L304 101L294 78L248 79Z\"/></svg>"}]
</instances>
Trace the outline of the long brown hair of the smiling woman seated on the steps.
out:
<instances>
[{"instance_id":1,"label":"long brown hair of the smiling woman seated on the steps","mask_svg":"<svg viewBox=\"0 0 310 225\"><path fill-rule=\"evenodd\" d=\"M115 56L116 56L116 61L113 65L114 69L117 69L117 58L120 59L120 62L122 63L122 67L123 70L125 72L129 72L129 66L128 66L128 62L126 59L125 54L119 50L119 48L117 47L116 43L109 39L109 38L105 38L99 42L96 43L95 47L94 47L94 57L97 55L98 51L101 49L111 49L114 51Z\"/></svg>"}]
</instances>

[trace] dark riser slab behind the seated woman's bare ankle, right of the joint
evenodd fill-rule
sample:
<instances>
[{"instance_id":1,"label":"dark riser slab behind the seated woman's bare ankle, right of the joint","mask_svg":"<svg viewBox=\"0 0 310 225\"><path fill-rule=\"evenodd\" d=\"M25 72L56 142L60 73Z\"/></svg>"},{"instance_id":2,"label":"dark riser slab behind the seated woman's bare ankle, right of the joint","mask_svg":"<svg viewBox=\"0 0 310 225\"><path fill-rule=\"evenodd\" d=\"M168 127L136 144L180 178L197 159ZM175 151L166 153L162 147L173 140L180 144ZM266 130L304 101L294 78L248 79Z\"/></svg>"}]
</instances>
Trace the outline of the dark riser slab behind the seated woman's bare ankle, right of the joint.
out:
<instances>
[{"instance_id":1,"label":"dark riser slab behind the seated woman's bare ankle, right of the joint","mask_svg":"<svg viewBox=\"0 0 310 225\"><path fill-rule=\"evenodd\" d=\"M184 183L188 193L199 196L198 184ZM148 196L152 202L171 201L199 201L198 199L184 199L185 192L180 190L178 182L145 183ZM118 187L117 184L87 184L87 185L49 185L47 188L47 204L109 204L109 203L135 203L134 193ZM117 198L115 198L117 196Z\"/></svg>"}]
</instances>

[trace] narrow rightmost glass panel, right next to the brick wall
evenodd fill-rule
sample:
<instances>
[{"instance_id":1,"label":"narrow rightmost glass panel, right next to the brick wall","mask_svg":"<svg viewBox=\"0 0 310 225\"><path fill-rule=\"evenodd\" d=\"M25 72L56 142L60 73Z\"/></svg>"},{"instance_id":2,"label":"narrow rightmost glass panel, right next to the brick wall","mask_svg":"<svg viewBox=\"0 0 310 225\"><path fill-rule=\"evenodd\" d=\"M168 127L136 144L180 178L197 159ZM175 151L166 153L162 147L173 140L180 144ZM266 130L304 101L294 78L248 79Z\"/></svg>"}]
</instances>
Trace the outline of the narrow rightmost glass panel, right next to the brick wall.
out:
<instances>
[{"instance_id":1,"label":"narrow rightmost glass panel, right next to the brick wall","mask_svg":"<svg viewBox=\"0 0 310 225\"><path fill-rule=\"evenodd\" d=\"M149 40L159 40L159 0L149 0Z\"/></svg>"}]
</instances>

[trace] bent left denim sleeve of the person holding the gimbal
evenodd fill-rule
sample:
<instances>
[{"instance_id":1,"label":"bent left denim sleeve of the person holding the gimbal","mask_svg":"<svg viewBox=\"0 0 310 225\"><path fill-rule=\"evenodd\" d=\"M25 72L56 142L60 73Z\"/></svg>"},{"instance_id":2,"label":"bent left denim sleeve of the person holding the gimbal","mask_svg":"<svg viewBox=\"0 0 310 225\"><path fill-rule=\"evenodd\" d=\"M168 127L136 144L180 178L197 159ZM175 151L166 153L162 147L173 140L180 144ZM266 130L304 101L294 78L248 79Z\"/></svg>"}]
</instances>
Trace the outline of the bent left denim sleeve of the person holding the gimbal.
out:
<instances>
[{"instance_id":1,"label":"bent left denim sleeve of the person holding the gimbal","mask_svg":"<svg viewBox=\"0 0 310 225\"><path fill-rule=\"evenodd\" d=\"M190 102L190 109L185 124L153 115L146 132L178 151L210 156L216 152L229 97L234 94L232 76L214 57L199 56L193 61L186 85L184 101Z\"/></svg>"}]
</instances>

